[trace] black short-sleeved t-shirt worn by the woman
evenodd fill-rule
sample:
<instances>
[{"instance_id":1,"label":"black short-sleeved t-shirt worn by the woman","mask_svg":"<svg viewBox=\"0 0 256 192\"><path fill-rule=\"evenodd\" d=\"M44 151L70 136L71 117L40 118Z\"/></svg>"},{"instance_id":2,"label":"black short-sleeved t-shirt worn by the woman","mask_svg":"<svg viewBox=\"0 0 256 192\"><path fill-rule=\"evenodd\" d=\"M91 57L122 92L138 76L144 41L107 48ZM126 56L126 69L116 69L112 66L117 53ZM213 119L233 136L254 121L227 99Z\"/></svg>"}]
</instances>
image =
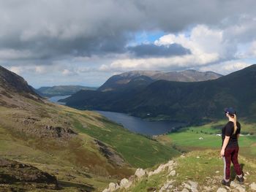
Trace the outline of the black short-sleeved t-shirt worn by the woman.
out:
<instances>
[{"instance_id":1,"label":"black short-sleeved t-shirt worn by the woman","mask_svg":"<svg viewBox=\"0 0 256 192\"><path fill-rule=\"evenodd\" d=\"M227 143L227 147L236 147L238 146L238 139L237 135L241 132L241 124L237 121L236 122L236 133L233 134L234 131L234 123L232 121L228 121L225 127L222 128L222 145L225 139L225 136L230 137L230 140Z\"/></svg>"}]
</instances>

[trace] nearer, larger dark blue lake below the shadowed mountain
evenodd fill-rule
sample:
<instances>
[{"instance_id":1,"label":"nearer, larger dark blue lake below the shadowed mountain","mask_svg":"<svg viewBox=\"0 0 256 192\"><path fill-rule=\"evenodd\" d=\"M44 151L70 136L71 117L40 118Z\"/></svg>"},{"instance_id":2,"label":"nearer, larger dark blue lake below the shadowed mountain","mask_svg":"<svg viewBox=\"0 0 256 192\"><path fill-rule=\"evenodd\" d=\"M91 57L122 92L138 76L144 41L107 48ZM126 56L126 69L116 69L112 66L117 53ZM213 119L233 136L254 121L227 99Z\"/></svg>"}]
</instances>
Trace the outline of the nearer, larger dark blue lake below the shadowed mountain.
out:
<instances>
[{"instance_id":1,"label":"nearer, larger dark blue lake below the shadowed mountain","mask_svg":"<svg viewBox=\"0 0 256 192\"><path fill-rule=\"evenodd\" d=\"M96 112L99 112L101 115L115 121L116 123L121 123L124 128L128 128L129 131L148 136L165 134L168 131L172 131L174 128L186 125L185 123L177 123L172 121L148 121L120 112Z\"/></svg>"}]
</instances>

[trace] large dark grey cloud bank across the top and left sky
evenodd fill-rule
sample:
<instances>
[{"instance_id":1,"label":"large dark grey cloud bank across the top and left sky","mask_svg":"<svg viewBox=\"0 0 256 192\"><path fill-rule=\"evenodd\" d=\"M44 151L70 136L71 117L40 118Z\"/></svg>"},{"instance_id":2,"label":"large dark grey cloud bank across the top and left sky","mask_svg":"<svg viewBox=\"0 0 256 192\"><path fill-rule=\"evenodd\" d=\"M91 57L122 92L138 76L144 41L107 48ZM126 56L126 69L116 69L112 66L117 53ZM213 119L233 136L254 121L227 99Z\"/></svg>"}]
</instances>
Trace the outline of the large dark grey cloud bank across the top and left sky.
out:
<instances>
[{"instance_id":1,"label":"large dark grey cloud bank across the top and left sky","mask_svg":"<svg viewBox=\"0 0 256 192\"><path fill-rule=\"evenodd\" d=\"M135 32L176 33L202 23L227 28L236 23L232 18L254 18L255 5L246 0L0 0L0 51L12 52L14 59L20 58L20 51L26 53L24 59L124 53ZM134 51L146 55L147 49L148 55L161 55L158 48L152 45ZM170 48L170 52L181 52L181 47Z\"/></svg>"}]
</instances>

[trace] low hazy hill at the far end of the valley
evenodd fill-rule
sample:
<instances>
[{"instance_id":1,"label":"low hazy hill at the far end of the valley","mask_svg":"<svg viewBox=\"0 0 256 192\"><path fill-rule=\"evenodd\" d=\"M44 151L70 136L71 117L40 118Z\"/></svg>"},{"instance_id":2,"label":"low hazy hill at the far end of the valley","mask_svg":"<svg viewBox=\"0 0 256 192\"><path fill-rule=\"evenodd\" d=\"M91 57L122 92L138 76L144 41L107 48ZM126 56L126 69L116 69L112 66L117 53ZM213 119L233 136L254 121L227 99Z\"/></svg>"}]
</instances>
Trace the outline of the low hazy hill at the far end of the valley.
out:
<instances>
[{"instance_id":1,"label":"low hazy hill at the far end of the valley","mask_svg":"<svg viewBox=\"0 0 256 192\"><path fill-rule=\"evenodd\" d=\"M41 87L37 89L37 93L41 96L67 96L72 95L80 90L96 90L94 87L85 87L81 85L59 85L53 87Z\"/></svg>"}]
</instances>

